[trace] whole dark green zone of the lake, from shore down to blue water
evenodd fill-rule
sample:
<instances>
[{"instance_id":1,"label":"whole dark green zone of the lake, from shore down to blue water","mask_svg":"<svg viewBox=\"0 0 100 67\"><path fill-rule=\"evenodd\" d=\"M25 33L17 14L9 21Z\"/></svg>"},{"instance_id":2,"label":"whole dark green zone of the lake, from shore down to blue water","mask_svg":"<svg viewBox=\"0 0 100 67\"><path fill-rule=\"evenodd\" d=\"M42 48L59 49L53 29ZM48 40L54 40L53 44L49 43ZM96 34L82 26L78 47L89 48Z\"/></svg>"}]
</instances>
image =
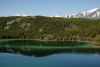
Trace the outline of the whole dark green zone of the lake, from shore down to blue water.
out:
<instances>
[{"instance_id":1,"label":"whole dark green zone of the lake, from shore down to blue water","mask_svg":"<svg viewBox=\"0 0 100 67\"><path fill-rule=\"evenodd\" d=\"M98 53L100 48L78 47L86 45L85 42L43 42L32 40L3 41L0 43L1 53L14 53L26 56L42 57L58 53ZM63 47L63 48L62 48Z\"/></svg>"}]
</instances>

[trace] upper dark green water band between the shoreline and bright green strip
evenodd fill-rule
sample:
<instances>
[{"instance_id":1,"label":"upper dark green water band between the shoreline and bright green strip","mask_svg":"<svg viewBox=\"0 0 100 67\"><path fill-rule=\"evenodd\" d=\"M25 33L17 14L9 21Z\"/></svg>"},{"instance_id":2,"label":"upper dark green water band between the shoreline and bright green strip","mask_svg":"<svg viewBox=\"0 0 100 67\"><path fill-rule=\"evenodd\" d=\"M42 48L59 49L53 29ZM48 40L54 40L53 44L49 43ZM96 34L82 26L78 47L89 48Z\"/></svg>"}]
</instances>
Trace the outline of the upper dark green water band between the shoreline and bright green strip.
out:
<instances>
[{"instance_id":1,"label":"upper dark green water band between the shoreline and bright green strip","mask_svg":"<svg viewBox=\"0 0 100 67\"><path fill-rule=\"evenodd\" d=\"M79 41L37 41L37 40L4 40L0 42L0 45L9 45L9 46L16 46L16 45L24 45L24 46L83 46L88 44L87 42L79 42Z\"/></svg>"}]
</instances>

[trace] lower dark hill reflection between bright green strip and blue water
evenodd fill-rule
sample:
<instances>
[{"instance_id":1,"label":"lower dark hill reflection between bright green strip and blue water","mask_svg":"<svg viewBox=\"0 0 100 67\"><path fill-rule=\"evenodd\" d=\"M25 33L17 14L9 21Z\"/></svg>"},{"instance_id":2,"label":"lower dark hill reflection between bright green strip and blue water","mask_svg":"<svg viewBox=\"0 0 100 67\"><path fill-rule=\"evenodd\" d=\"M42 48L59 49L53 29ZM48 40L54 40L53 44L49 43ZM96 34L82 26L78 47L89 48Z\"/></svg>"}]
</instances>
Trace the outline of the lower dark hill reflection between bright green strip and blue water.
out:
<instances>
[{"instance_id":1,"label":"lower dark hill reflection between bright green strip and blue water","mask_svg":"<svg viewBox=\"0 0 100 67\"><path fill-rule=\"evenodd\" d=\"M42 57L58 53L84 53L84 54L100 54L99 48L70 48L70 49L21 49L21 48L5 48L0 47L2 53L22 54L26 56Z\"/></svg>"}]
</instances>

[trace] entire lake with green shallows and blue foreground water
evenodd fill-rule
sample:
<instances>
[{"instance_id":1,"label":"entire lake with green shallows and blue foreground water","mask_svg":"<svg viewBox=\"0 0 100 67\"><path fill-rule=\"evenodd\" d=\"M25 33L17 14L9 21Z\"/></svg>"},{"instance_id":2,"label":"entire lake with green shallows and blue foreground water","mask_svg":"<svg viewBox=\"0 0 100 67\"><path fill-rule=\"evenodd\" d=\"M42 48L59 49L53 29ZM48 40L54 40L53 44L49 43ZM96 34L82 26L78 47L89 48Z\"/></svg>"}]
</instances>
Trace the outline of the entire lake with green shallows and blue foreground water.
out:
<instances>
[{"instance_id":1,"label":"entire lake with green shallows and blue foreground water","mask_svg":"<svg viewBox=\"0 0 100 67\"><path fill-rule=\"evenodd\" d=\"M100 67L100 49L86 42L0 41L0 67Z\"/></svg>"}]
</instances>

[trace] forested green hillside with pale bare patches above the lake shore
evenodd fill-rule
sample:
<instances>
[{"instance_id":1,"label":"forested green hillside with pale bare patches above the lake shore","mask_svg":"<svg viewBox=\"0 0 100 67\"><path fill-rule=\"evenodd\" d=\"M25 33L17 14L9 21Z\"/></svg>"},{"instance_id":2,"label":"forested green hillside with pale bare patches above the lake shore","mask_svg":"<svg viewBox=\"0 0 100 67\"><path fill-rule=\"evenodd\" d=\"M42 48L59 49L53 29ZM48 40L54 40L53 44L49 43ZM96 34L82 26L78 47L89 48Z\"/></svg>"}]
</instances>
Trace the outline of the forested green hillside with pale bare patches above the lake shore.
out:
<instances>
[{"instance_id":1,"label":"forested green hillside with pale bare patches above the lake shore","mask_svg":"<svg viewBox=\"0 0 100 67\"><path fill-rule=\"evenodd\" d=\"M0 39L99 42L98 36L100 37L100 20L44 16L0 17Z\"/></svg>"}]
</instances>

